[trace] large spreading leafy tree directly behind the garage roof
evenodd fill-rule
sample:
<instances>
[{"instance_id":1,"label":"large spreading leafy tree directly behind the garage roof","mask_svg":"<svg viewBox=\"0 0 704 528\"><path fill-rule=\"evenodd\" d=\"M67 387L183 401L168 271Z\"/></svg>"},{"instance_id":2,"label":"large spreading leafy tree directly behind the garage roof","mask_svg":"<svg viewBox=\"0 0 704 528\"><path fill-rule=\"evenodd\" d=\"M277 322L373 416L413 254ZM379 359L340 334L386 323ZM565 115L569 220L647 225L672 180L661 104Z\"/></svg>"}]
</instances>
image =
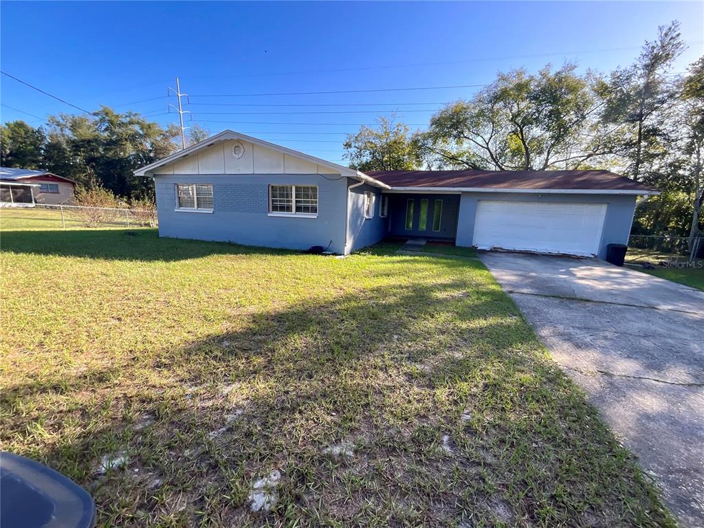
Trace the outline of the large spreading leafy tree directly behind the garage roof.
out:
<instances>
[{"instance_id":1,"label":"large spreading leafy tree directly behind the garage roof","mask_svg":"<svg viewBox=\"0 0 704 528\"><path fill-rule=\"evenodd\" d=\"M433 116L419 134L428 165L441 168L532 170L574 168L608 151L585 142L597 107L589 77L567 64L537 75L501 73L469 101Z\"/></svg>"}]
</instances>

